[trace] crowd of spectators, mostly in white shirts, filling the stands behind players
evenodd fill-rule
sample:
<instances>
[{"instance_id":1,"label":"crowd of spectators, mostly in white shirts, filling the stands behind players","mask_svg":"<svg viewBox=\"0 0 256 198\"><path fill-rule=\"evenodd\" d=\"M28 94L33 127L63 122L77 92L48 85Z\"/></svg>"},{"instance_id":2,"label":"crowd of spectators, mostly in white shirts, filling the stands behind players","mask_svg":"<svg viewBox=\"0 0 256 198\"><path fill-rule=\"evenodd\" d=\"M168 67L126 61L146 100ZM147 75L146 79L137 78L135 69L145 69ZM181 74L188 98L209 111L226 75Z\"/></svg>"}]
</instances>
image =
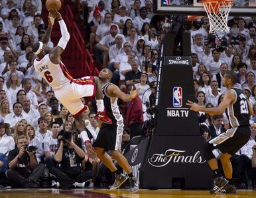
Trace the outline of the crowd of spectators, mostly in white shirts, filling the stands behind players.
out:
<instances>
[{"instance_id":1,"label":"crowd of spectators, mostly in white shirts, filling the stands behind players","mask_svg":"<svg viewBox=\"0 0 256 198\"><path fill-rule=\"evenodd\" d=\"M88 48L99 68L109 68L113 72L111 82L125 93L141 88L130 102L119 100L125 119L121 148L126 153L133 137L142 140L149 135L145 123L153 115L147 109L154 104L159 49L164 33L170 30L169 16L155 15L151 0L80 0L80 5L84 8ZM46 31L41 12L40 0L1 1L0 185L39 187L49 176L52 187L109 186L113 182L109 170L97 157L88 156L83 142L86 137L93 143L99 131L100 124L94 119L96 101L81 98L88 110L82 112L86 131L79 134L72 114L34 70L32 44ZM234 16L228 24L230 32L214 39L208 34L206 17L191 22L191 26L184 22L181 30L192 36L196 102L204 107L218 106L227 91L222 78L229 70L237 73L236 86L253 105L251 139L232 161L240 187L250 187L247 181L256 178L256 17ZM52 42L47 46L52 48ZM198 116L198 135L201 133L206 141L229 127L225 114ZM61 139L67 131L73 131L71 137ZM35 152L33 148L37 148ZM218 150L215 154L218 156Z\"/></svg>"}]
</instances>

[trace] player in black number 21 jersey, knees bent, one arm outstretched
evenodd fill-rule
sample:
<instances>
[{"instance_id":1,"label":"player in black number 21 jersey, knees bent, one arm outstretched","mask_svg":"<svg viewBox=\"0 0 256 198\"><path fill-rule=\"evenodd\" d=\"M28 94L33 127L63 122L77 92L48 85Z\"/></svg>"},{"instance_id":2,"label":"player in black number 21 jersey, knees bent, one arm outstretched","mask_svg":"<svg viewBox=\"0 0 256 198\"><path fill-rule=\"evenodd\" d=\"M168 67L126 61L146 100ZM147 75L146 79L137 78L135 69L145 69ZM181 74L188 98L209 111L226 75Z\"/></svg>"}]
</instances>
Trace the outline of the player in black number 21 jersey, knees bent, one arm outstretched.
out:
<instances>
[{"instance_id":1,"label":"player in black number 21 jersey, knees bent, one arm outstretched","mask_svg":"<svg viewBox=\"0 0 256 198\"><path fill-rule=\"evenodd\" d=\"M202 108L189 100L186 103L194 112L217 115L226 111L229 118L230 128L225 133L208 141L204 147L204 157L214 172L214 188L210 193L237 193L232 181L232 165L229 159L247 143L251 134L249 118L253 115L253 109L243 91L233 87L235 83L237 83L237 75L231 71L227 72L223 78L223 85L228 88L228 91L224 95L224 100L217 107ZM225 178L220 174L218 162L212 153L214 149L219 149L222 152L220 161ZM229 184L227 185L227 183Z\"/></svg>"}]
</instances>

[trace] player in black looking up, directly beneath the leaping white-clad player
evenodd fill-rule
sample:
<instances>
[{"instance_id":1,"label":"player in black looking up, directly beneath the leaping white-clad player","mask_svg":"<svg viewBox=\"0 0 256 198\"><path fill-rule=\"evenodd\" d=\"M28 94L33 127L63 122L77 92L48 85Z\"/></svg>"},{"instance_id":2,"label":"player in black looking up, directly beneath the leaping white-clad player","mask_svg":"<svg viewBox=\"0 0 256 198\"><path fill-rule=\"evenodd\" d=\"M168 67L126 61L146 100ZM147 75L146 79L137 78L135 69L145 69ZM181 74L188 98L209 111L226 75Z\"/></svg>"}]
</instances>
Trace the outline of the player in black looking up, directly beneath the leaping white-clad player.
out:
<instances>
[{"instance_id":1,"label":"player in black looking up, directly beneath the leaping white-clad player","mask_svg":"<svg viewBox=\"0 0 256 198\"><path fill-rule=\"evenodd\" d=\"M121 174L113 164L111 159L117 160L117 163L129 176L131 183L130 192L139 190L139 180L133 176L131 167L121 152L121 141L123 136L123 117L119 112L117 106L117 99L120 98L123 101L129 101L135 98L139 93L139 88L131 90L130 94L124 94L115 84L110 83L112 72L109 69L102 69L99 73L99 81L103 91L103 103L105 106L105 112L107 117L112 120L112 124L102 123L97 139L94 142L94 149L96 150L97 157L109 168L113 174L115 174L115 182L111 185L110 189L117 189L123 182L127 180L126 176ZM111 151L111 157L105 150Z\"/></svg>"}]
</instances>

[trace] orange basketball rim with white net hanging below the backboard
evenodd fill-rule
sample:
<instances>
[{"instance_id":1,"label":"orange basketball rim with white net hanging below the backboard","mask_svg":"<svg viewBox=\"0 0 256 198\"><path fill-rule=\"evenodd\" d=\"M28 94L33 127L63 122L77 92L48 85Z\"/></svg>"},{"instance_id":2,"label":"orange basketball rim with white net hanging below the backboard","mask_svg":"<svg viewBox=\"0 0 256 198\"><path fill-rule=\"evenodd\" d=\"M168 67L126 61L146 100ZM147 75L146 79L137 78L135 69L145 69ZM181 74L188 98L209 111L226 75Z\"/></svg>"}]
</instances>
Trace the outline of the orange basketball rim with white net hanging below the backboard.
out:
<instances>
[{"instance_id":1,"label":"orange basketball rim with white net hanging below the backboard","mask_svg":"<svg viewBox=\"0 0 256 198\"><path fill-rule=\"evenodd\" d=\"M210 34L229 32L227 17L233 5L232 0L203 0L202 4L209 18Z\"/></svg>"}]
</instances>

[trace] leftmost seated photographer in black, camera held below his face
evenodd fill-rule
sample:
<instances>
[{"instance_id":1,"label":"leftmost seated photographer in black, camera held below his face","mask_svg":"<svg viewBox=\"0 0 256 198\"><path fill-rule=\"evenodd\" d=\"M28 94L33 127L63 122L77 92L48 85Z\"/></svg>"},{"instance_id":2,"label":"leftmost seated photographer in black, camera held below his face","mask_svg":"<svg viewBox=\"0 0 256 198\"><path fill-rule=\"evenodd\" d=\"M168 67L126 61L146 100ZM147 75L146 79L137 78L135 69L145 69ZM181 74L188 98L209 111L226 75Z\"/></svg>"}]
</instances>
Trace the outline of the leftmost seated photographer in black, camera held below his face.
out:
<instances>
[{"instance_id":1,"label":"leftmost seated photographer in black, camera held below his face","mask_svg":"<svg viewBox=\"0 0 256 198\"><path fill-rule=\"evenodd\" d=\"M38 164L36 161L35 149L26 147L27 143L25 135L18 137L17 149L11 150L7 158L7 178L13 187L38 187L38 178L44 170L44 164Z\"/></svg>"}]
</instances>

